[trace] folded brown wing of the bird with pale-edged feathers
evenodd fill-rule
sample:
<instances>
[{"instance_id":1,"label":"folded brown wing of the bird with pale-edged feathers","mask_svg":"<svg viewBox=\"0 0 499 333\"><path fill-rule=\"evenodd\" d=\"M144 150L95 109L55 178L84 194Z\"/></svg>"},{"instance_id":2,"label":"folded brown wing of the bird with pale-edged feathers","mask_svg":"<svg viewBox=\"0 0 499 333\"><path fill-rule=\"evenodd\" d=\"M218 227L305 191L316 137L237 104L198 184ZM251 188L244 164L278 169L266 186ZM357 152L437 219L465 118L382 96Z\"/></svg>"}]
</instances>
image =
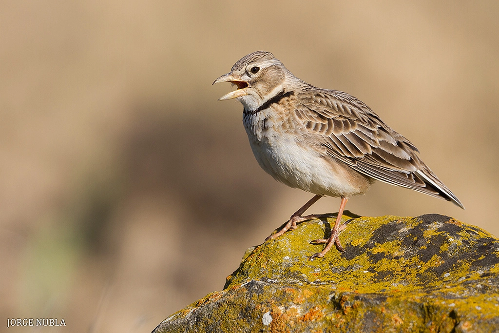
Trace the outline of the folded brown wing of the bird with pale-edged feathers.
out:
<instances>
[{"instance_id":1,"label":"folded brown wing of the bird with pale-edged feathers","mask_svg":"<svg viewBox=\"0 0 499 333\"><path fill-rule=\"evenodd\" d=\"M320 134L327 154L374 179L454 201L456 196L421 161L418 149L357 98L309 86L298 96L296 116Z\"/></svg>"}]
</instances>

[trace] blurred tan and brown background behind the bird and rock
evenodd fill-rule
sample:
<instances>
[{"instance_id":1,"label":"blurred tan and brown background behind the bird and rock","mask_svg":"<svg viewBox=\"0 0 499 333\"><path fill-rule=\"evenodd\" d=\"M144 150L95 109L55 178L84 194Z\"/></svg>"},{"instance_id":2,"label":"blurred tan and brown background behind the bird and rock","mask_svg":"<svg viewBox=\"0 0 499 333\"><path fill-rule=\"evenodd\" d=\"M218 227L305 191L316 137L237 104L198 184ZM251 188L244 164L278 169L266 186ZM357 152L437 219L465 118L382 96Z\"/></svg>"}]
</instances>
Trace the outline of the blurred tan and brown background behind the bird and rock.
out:
<instances>
[{"instance_id":1,"label":"blurred tan and brown background behind the bird and rock","mask_svg":"<svg viewBox=\"0 0 499 333\"><path fill-rule=\"evenodd\" d=\"M498 17L498 1L2 1L0 331L150 332L311 198L260 170L241 104L217 102L233 88L211 86L260 49L371 106L467 208L377 183L347 209L499 236Z\"/></svg>"}]
</instances>

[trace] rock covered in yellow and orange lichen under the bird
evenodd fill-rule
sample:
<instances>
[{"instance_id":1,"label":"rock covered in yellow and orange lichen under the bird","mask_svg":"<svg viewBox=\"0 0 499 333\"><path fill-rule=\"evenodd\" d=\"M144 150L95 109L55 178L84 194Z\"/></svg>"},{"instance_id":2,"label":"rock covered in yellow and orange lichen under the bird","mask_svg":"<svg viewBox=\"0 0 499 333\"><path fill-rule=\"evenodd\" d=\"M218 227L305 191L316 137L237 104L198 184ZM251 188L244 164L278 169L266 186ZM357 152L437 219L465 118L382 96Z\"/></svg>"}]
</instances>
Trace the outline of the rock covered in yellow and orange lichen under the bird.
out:
<instances>
[{"instance_id":1,"label":"rock covered in yellow and orange lichen under the bird","mask_svg":"<svg viewBox=\"0 0 499 333\"><path fill-rule=\"evenodd\" d=\"M438 214L357 217L340 235L346 252L309 261L331 223L249 249L223 291L153 332L499 332L494 236Z\"/></svg>"}]
</instances>

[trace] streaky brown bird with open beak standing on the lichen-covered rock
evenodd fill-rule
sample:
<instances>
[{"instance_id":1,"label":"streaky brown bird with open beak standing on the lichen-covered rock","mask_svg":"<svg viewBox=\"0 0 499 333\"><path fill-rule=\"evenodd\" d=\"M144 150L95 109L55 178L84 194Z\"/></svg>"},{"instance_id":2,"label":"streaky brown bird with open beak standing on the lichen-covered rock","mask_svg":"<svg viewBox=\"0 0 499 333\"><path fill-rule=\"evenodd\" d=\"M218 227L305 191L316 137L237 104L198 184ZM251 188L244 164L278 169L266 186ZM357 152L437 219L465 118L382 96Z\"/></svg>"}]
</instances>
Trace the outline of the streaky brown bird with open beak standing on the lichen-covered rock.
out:
<instances>
[{"instance_id":1,"label":"streaky brown bird with open beak standing on the lichen-covered rock","mask_svg":"<svg viewBox=\"0 0 499 333\"><path fill-rule=\"evenodd\" d=\"M213 84L237 88L219 98L243 104L243 124L260 167L275 180L314 194L287 223L265 241L297 223L323 215L304 212L322 197L341 198L331 235L309 259L323 257L333 245L344 252L339 234L347 201L364 194L377 180L451 201L459 199L419 157L419 150L385 124L365 103L339 90L315 87L294 76L272 53L252 52ZM212 84L212 85L213 85Z\"/></svg>"}]
</instances>

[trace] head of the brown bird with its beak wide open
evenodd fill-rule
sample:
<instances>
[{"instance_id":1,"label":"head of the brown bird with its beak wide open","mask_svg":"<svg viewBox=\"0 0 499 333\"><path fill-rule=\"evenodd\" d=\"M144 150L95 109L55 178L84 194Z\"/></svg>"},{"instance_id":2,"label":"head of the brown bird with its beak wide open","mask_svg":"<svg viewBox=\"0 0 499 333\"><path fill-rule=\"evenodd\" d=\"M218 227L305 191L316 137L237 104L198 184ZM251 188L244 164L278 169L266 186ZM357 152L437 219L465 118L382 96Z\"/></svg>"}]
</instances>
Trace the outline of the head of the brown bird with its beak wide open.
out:
<instances>
[{"instance_id":1,"label":"head of the brown bird with its beak wide open","mask_svg":"<svg viewBox=\"0 0 499 333\"><path fill-rule=\"evenodd\" d=\"M219 100L237 98L247 110L254 110L268 97L283 89L286 76L291 74L272 53L256 51L234 64L232 70L213 82L231 82L237 89ZM292 75L292 74L291 74Z\"/></svg>"}]
</instances>

